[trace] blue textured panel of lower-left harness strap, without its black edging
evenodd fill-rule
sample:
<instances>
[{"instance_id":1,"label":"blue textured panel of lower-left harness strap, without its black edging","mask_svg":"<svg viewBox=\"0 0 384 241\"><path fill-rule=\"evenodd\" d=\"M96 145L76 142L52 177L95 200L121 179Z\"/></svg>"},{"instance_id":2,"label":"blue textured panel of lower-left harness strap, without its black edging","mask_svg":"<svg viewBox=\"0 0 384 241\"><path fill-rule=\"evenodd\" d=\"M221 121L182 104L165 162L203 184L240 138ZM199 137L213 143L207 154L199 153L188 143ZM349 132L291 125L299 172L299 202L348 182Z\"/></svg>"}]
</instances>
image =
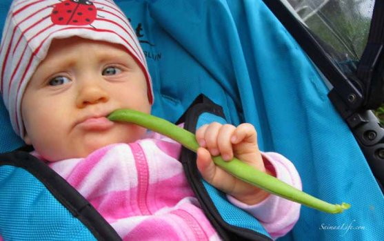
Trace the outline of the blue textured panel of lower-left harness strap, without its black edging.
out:
<instances>
[{"instance_id":1,"label":"blue textured panel of lower-left harness strap, without its black edging","mask_svg":"<svg viewBox=\"0 0 384 241\"><path fill-rule=\"evenodd\" d=\"M46 191L46 187L41 182L37 182L30 173L13 166L1 166L0 171L2 199L0 211L3 216L0 219L0 234L4 240L8 238L10 240L67 240L68 237L84 241L96 240L90 230L54 200L54 197ZM25 185L34 186L34 188L23 189ZM15 188L23 190L26 204L17 205L12 202L14 201L12 192ZM36 202L35 199L44 201ZM50 205L45 205L47 203ZM28 221L25 217L33 217L33 219ZM60 222L61 220L72 222ZM43 222L51 223L49 230L45 225L41 225ZM13 226L13 229L7 229L6 226Z\"/></svg>"}]
</instances>

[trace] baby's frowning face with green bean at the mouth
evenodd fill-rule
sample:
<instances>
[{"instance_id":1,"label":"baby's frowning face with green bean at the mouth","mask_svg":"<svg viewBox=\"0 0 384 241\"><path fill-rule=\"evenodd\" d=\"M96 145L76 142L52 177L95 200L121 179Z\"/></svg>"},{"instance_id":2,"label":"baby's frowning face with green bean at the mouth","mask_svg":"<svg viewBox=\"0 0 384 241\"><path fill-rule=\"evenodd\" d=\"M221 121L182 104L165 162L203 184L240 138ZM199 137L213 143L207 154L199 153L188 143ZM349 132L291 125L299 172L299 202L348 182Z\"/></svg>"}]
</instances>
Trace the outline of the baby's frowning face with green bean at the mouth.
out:
<instances>
[{"instance_id":1,"label":"baby's frowning face with green bean at the mouth","mask_svg":"<svg viewBox=\"0 0 384 241\"><path fill-rule=\"evenodd\" d=\"M141 138L144 128L106 118L118 108L150 113L145 76L130 54L102 41L54 40L23 95L24 140L57 161Z\"/></svg>"}]
</instances>

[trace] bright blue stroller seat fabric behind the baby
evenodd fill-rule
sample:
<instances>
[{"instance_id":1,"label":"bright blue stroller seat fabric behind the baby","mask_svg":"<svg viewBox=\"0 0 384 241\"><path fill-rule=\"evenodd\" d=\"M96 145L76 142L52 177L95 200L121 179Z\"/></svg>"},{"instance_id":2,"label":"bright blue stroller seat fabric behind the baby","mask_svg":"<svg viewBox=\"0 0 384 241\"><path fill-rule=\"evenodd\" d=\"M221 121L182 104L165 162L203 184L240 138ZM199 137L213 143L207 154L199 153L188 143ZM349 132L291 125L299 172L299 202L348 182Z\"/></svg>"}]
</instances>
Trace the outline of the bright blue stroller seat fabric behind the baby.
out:
<instances>
[{"instance_id":1,"label":"bright blue stroller seat fabric behind the baby","mask_svg":"<svg viewBox=\"0 0 384 241\"><path fill-rule=\"evenodd\" d=\"M147 57L154 115L176 122L203 93L223 107L228 122L254 124L262 151L288 157L303 191L352 204L337 215L303 206L281 240L384 240L384 197L365 157L327 98L316 66L263 1L115 2ZM9 5L1 1L1 10ZM0 118L0 151L21 146L3 106ZM0 176L4 172L0 167Z\"/></svg>"}]
</instances>

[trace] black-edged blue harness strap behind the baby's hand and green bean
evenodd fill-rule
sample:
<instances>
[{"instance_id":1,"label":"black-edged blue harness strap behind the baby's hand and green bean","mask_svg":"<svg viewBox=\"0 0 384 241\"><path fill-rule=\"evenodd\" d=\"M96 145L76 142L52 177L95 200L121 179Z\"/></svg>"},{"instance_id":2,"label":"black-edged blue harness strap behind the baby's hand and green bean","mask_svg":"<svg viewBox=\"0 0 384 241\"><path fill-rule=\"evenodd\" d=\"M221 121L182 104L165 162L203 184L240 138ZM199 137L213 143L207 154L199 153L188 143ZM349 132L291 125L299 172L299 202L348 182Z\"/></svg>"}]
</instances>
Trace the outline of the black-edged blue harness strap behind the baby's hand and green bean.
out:
<instances>
[{"instance_id":1,"label":"black-edged blue harness strap behind the baby's hand and green bean","mask_svg":"<svg viewBox=\"0 0 384 241\"><path fill-rule=\"evenodd\" d=\"M223 108L208 97L199 95L177 123L194 133L210 122L227 123ZM196 194L201 208L224 240L270 240L263 226L249 213L228 202L225 193L215 189L201 178L196 167L196 154L183 148L180 156L185 176Z\"/></svg>"}]
</instances>

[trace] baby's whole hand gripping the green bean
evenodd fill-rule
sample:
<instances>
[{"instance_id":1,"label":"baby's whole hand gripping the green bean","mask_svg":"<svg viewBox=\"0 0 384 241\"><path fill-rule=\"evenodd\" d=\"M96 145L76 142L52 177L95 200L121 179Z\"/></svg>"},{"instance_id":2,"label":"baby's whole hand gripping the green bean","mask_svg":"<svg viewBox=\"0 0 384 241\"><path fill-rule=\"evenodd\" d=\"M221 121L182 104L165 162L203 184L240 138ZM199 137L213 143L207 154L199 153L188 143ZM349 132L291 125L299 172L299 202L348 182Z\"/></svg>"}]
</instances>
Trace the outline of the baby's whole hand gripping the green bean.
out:
<instances>
[{"instance_id":1,"label":"baby's whole hand gripping the green bean","mask_svg":"<svg viewBox=\"0 0 384 241\"><path fill-rule=\"evenodd\" d=\"M266 172L257 146L256 130L252 124L235 127L213 122L196 131L196 140L201 146L197 150L197 168L208 183L245 204L257 204L268 196L262 189L243 182L216 166L211 158L211 155L221 155L223 160L228 161L236 156L259 171Z\"/></svg>"}]
</instances>

